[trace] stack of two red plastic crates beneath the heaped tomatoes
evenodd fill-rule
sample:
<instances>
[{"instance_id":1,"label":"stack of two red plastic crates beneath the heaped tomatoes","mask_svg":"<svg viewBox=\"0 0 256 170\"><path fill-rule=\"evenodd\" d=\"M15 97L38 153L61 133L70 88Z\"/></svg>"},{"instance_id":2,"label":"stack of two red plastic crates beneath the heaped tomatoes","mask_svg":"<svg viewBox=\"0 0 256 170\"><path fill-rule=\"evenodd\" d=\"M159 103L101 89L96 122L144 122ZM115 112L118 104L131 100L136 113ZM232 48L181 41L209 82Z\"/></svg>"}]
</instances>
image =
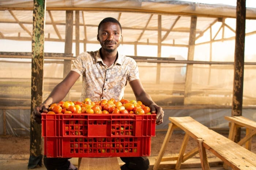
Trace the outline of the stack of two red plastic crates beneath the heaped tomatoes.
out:
<instances>
[{"instance_id":1,"label":"stack of two red plastic crates beneath the heaped tomatoes","mask_svg":"<svg viewBox=\"0 0 256 170\"><path fill-rule=\"evenodd\" d=\"M42 114L47 157L149 156L156 114Z\"/></svg>"}]
</instances>

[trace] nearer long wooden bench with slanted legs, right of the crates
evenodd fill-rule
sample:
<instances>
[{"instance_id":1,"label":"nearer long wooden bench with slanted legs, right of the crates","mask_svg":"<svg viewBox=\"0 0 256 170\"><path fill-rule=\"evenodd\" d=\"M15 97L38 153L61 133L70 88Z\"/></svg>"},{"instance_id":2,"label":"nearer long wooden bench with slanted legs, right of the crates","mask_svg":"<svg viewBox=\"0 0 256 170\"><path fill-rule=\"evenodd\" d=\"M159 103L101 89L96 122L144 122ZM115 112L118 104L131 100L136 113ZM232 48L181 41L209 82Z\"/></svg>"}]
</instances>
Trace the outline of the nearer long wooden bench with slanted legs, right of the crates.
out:
<instances>
[{"instance_id":1,"label":"nearer long wooden bench with slanted legs, right of the crates","mask_svg":"<svg viewBox=\"0 0 256 170\"><path fill-rule=\"evenodd\" d=\"M169 120L172 123L169 124L167 134L153 166L153 170L157 170L162 161L174 160L177 160L175 169L180 169L182 162L193 157L197 153L200 155L202 169L208 170L210 169L210 166L207 161L206 149L211 151L224 163L226 163L226 165L233 169L256 169L256 154L224 137L223 135L208 129L208 127L197 122L193 118L189 116L169 117ZM162 158L173 130L176 128L180 128L185 131L185 136L179 155L178 157ZM189 137L192 137L197 141L197 147L184 154Z\"/></svg>"}]
</instances>

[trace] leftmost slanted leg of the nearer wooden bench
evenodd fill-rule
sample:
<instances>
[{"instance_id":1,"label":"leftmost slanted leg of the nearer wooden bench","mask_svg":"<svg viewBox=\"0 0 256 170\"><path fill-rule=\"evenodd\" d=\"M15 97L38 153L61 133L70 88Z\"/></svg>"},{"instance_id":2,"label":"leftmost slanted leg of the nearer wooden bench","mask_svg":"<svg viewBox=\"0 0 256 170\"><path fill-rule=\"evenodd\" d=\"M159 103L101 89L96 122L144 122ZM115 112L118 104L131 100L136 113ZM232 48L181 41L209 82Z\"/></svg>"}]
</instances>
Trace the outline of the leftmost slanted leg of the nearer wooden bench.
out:
<instances>
[{"instance_id":1,"label":"leftmost slanted leg of the nearer wooden bench","mask_svg":"<svg viewBox=\"0 0 256 170\"><path fill-rule=\"evenodd\" d=\"M163 144L161 146L161 149L158 153L158 156L157 156L157 159L155 160L155 164L153 166L153 170L157 170L159 165L160 165L160 162L161 162L161 159L163 157L163 154L165 152L165 149L166 149L166 146L167 146L167 143L170 141L170 138L172 136L172 133L173 133L173 130L176 128L177 126L173 123L169 123L169 128L168 128L168 131L165 135L165 139L163 140Z\"/></svg>"}]
</instances>

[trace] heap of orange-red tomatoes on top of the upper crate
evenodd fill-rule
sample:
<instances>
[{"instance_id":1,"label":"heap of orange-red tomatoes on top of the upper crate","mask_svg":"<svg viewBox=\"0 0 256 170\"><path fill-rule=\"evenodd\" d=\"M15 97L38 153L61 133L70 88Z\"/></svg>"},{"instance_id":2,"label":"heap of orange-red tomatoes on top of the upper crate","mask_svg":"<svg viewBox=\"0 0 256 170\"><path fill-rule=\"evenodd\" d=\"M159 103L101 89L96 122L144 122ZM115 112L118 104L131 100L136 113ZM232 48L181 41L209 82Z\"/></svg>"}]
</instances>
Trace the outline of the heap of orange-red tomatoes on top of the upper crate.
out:
<instances>
[{"instance_id":1,"label":"heap of orange-red tomatoes on top of the upper crate","mask_svg":"<svg viewBox=\"0 0 256 170\"><path fill-rule=\"evenodd\" d=\"M93 102L86 98L83 102L60 101L53 103L48 109L48 114L151 114L150 108L142 102L136 100L121 99L103 99Z\"/></svg>"}]
</instances>

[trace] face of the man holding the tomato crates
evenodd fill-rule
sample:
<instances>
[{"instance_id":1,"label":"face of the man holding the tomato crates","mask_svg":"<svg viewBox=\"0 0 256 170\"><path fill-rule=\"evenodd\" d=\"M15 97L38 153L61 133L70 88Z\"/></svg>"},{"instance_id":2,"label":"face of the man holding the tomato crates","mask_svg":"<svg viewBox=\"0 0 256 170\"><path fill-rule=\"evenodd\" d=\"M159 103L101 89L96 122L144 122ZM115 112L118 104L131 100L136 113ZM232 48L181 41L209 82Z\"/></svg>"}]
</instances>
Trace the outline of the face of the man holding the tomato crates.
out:
<instances>
[{"instance_id":1,"label":"face of the man holding the tomato crates","mask_svg":"<svg viewBox=\"0 0 256 170\"><path fill-rule=\"evenodd\" d=\"M103 23L99 28L97 39L101 44L102 50L113 52L121 42L121 28L117 23Z\"/></svg>"}]
</instances>

